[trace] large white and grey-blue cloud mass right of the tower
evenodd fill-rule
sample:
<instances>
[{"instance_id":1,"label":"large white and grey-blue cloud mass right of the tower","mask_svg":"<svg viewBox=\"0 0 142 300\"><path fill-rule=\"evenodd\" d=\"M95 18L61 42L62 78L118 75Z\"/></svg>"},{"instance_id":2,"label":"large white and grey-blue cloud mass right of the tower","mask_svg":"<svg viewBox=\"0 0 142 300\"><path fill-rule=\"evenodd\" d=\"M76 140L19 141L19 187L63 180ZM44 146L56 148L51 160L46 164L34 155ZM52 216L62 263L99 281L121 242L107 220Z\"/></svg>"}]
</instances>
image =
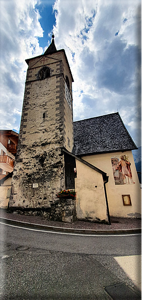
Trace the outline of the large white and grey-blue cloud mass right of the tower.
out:
<instances>
[{"instance_id":1,"label":"large white and grey-blue cloud mass right of the tower","mask_svg":"<svg viewBox=\"0 0 142 300\"><path fill-rule=\"evenodd\" d=\"M65 49L75 81L74 119L118 110L139 143L140 1L79 0L70 2L69 9L67 5L56 1L53 31L57 49Z\"/></svg>"}]
</instances>

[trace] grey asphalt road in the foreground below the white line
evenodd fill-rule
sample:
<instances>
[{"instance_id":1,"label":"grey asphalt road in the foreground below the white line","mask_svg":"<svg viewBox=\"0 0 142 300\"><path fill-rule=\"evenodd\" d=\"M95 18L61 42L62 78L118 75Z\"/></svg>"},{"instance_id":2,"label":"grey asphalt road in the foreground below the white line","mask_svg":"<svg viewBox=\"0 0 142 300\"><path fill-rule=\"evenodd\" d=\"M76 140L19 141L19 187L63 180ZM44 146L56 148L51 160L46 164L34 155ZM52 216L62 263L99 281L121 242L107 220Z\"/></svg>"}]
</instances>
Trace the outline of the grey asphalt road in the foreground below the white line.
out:
<instances>
[{"instance_id":1,"label":"grey asphalt road in the foreground below the white line","mask_svg":"<svg viewBox=\"0 0 142 300\"><path fill-rule=\"evenodd\" d=\"M125 283L134 291L133 300L141 299L115 259L140 254L140 235L62 235L1 224L0 297L104 300L112 299L104 287ZM140 266L135 268L138 276Z\"/></svg>"}]
</instances>

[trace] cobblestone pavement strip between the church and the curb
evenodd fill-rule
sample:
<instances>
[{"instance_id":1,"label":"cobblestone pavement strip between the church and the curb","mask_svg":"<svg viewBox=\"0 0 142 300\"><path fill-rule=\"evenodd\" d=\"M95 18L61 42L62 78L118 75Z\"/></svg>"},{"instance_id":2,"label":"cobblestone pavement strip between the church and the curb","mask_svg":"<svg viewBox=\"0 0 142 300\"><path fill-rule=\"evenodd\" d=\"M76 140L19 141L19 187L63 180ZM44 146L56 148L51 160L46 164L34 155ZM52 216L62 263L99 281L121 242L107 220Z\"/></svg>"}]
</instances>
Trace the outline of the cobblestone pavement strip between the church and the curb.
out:
<instances>
[{"instance_id":1,"label":"cobblestone pavement strip between the church and the curb","mask_svg":"<svg viewBox=\"0 0 142 300\"><path fill-rule=\"evenodd\" d=\"M0 209L0 217L21 221L30 224L41 224L43 226L71 228L71 229L84 229L84 230L128 230L128 229L141 229L141 219L136 218L121 218L111 217L111 225L100 224L94 222L77 220L74 223L48 221L42 216L29 216L23 214L7 213L5 209Z\"/></svg>"}]
</instances>

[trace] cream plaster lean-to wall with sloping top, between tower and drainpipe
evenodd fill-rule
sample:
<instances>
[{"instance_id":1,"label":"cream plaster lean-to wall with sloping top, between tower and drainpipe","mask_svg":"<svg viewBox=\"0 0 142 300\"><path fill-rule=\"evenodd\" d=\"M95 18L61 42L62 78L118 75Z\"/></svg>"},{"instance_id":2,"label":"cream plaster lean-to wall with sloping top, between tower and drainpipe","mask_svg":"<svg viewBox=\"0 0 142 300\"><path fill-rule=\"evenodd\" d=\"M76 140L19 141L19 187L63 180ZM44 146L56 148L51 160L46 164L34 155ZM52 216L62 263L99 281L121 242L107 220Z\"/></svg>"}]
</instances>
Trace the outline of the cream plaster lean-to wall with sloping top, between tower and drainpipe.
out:
<instances>
[{"instance_id":1,"label":"cream plaster lean-to wall with sloping top, between tower and drainpipe","mask_svg":"<svg viewBox=\"0 0 142 300\"><path fill-rule=\"evenodd\" d=\"M77 218L108 221L102 174L78 160L76 166Z\"/></svg>"}]
</instances>

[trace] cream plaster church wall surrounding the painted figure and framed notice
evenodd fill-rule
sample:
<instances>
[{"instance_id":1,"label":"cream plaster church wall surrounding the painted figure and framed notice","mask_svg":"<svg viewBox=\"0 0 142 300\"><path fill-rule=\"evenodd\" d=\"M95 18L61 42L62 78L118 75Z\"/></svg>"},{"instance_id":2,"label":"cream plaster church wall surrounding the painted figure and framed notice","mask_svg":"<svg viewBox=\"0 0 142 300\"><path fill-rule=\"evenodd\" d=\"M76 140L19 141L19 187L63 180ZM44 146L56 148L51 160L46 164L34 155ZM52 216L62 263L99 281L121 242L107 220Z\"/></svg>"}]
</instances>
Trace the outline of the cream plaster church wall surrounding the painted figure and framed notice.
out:
<instances>
[{"instance_id":1,"label":"cream plaster church wall surrounding the painted figure and framed notice","mask_svg":"<svg viewBox=\"0 0 142 300\"><path fill-rule=\"evenodd\" d=\"M134 184L115 185L111 158L126 155L131 163L130 169ZM139 217L141 214L141 190L131 151L107 153L83 157L84 160L107 173L109 181L106 184L109 212L117 217ZM131 206L124 206L122 195L130 195Z\"/></svg>"}]
</instances>

